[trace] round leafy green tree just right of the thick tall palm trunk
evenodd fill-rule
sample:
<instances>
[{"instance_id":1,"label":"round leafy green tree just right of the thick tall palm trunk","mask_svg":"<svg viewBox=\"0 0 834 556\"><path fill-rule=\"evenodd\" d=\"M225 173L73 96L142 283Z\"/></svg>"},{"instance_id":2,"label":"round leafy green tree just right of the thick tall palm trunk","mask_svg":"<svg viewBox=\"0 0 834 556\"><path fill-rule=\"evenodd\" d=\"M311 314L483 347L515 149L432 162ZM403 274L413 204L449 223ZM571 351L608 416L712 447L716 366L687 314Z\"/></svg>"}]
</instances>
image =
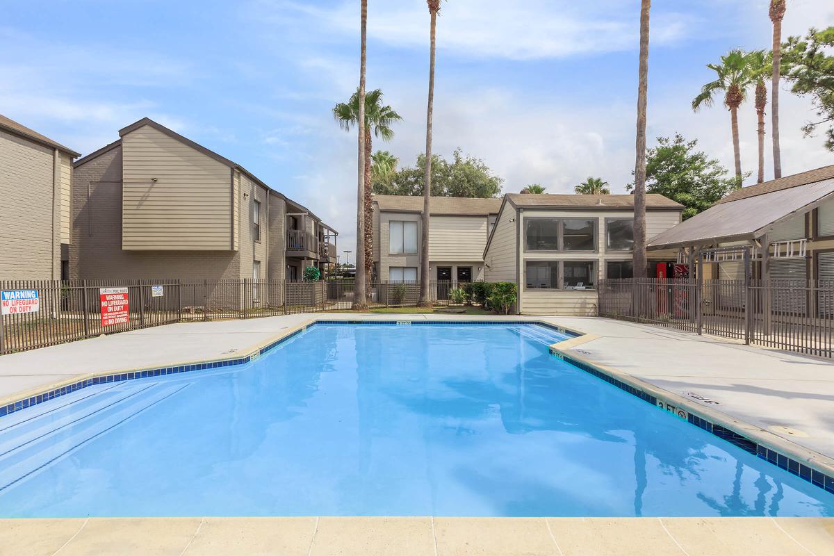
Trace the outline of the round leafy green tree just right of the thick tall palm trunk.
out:
<instances>
[{"instance_id":1,"label":"round leafy green tree just right of the thick tall palm trunk","mask_svg":"<svg viewBox=\"0 0 834 556\"><path fill-rule=\"evenodd\" d=\"M697 140L659 137L646 156L646 191L660 193L684 205L683 219L710 208L744 178L727 176L726 168L706 153L696 150ZM628 191L634 183L625 186Z\"/></svg>"}]
</instances>

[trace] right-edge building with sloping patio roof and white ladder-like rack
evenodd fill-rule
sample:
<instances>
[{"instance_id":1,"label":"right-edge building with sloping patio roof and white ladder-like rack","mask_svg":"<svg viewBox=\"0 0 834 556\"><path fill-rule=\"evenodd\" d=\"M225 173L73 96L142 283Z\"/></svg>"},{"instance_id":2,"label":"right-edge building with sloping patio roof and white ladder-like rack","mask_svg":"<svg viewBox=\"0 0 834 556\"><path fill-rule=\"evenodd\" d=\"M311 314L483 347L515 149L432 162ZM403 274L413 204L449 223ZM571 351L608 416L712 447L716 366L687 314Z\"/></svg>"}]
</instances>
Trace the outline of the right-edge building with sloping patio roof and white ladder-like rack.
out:
<instances>
[{"instance_id":1,"label":"right-edge building with sloping patio roof and white ladder-like rack","mask_svg":"<svg viewBox=\"0 0 834 556\"><path fill-rule=\"evenodd\" d=\"M751 257L750 278L832 283L834 165L738 189L649 242L650 253L670 248L698 253L716 247L727 248L726 253L706 261L705 279L745 279L744 248ZM813 302L796 296L785 309L805 313Z\"/></svg>"}]
</instances>

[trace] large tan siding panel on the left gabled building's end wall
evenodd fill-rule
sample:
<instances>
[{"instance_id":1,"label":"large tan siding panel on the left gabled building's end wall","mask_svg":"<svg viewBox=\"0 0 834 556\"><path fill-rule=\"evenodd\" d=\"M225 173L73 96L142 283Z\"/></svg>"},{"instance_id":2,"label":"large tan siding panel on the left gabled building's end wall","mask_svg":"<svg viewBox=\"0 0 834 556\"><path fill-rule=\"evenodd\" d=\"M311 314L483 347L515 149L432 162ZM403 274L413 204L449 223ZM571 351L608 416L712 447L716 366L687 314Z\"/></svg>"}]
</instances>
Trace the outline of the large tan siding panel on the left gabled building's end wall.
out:
<instances>
[{"instance_id":1,"label":"large tan siding panel on the left gabled building's end wall","mask_svg":"<svg viewBox=\"0 0 834 556\"><path fill-rule=\"evenodd\" d=\"M124 249L234 247L228 166L147 125L123 136L122 157Z\"/></svg>"}]
</instances>

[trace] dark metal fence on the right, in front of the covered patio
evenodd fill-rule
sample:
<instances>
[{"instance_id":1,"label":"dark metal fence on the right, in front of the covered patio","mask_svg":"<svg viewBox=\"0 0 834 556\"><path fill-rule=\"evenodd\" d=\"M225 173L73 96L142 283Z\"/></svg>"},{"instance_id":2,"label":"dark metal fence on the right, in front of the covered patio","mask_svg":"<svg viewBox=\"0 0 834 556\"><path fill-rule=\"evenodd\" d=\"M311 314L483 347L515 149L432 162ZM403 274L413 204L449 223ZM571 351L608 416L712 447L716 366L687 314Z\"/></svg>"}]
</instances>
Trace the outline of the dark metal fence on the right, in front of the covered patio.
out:
<instances>
[{"instance_id":1,"label":"dark metal fence on the right, in front of the covered patio","mask_svg":"<svg viewBox=\"0 0 834 556\"><path fill-rule=\"evenodd\" d=\"M834 357L834 282L600 280L600 317Z\"/></svg>"}]
</instances>

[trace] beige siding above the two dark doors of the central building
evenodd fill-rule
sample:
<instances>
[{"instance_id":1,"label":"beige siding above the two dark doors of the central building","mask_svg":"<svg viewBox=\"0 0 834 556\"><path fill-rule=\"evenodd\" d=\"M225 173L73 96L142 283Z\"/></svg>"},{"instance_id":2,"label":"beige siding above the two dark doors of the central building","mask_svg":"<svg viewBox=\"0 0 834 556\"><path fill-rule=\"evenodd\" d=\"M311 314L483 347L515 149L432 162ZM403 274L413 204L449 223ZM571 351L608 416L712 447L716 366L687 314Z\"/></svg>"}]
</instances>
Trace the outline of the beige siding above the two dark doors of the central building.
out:
<instances>
[{"instance_id":1,"label":"beige siding above the two dark doors of the central building","mask_svg":"<svg viewBox=\"0 0 834 556\"><path fill-rule=\"evenodd\" d=\"M485 247L485 216L430 217L430 260L480 261L484 256Z\"/></svg>"}]
</instances>

